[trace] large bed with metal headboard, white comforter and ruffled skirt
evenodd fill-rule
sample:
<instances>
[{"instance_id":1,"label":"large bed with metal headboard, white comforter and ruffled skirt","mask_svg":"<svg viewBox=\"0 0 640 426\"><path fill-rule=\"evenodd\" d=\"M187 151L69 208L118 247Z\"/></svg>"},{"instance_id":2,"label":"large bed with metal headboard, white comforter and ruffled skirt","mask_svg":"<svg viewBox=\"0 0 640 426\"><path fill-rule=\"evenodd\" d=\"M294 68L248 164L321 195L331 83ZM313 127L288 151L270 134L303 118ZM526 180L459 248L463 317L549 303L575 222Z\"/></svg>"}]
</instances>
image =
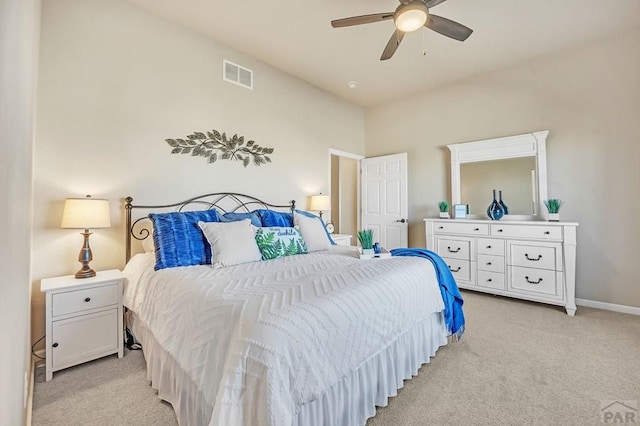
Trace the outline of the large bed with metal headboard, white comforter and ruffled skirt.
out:
<instances>
[{"instance_id":1,"label":"large bed with metal headboard, white comforter and ruffled skirt","mask_svg":"<svg viewBox=\"0 0 640 426\"><path fill-rule=\"evenodd\" d=\"M159 268L163 213L149 215L152 231L148 216L133 220L133 211L173 208L189 215L194 206L239 220L198 220L210 258ZM434 263L415 253L364 261L355 247L331 244L312 250L316 243L307 230L309 224L316 230L315 219L294 202L273 205L215 193L137 206L128 197L125 211L128 327L143 347L148 379L181 425L363 425L452 332L462 332L448 323L447 297L438 283L443 272ZM307 252L215 266L226 252L206 226L216 232L233 226L233 239L240 240L245 224L255 221L247 216L256 211L300 220L294 229L309 240L308 247L302 243ZM171 226L180 234L182 225ZM250 229L254 236L259 232ZM295 231L282 232L290 233ZM149 238L155 250L131 256L132 240ZM193 249L181 247L173 249Z\"/></svg>"}]
</instances>

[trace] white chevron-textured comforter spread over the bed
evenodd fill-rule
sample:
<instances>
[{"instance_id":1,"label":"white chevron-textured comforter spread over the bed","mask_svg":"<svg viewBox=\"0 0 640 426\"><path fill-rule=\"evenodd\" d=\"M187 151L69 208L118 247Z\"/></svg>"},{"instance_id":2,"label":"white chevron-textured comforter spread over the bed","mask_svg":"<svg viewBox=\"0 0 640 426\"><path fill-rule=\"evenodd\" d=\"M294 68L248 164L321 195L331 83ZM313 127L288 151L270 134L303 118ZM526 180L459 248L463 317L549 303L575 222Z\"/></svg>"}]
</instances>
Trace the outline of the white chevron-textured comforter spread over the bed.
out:
<instances>
[{"instance_id":1,"label":"white chevron-textured comforter spread over the bed","mask_svg":"<svg viewBox=\"0 0 640 426\"><path fill-rule=\"evenodd\" d=\"M290 425L301 407L444 308L433 266L350 248L213 269L125 268L124 303L213 407L210 425Z\"/></svg>"}]
</instances>

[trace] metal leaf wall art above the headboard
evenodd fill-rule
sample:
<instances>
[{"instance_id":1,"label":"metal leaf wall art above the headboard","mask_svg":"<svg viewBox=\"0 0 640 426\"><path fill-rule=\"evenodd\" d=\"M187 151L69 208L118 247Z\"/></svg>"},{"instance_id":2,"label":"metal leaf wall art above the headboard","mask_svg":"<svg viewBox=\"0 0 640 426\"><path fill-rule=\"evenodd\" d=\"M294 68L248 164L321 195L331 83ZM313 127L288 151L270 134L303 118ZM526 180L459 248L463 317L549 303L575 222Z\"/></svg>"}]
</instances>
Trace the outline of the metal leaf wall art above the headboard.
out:
<instances>
[{"instance_id":1,"label":"metal leaf wall art above the headboard","mask_svg":"<svg viewBox=\"0 0 640 426\"><path fill-rule=\"evenodd\" d=\"M191 154L193 157L204 157L207 162L215 163L218 160L242 161L242 165L247 167L249 163L256 166L271 163L269 154L273 154L273 148L264 148L255 143L247 141L244 136L228 138L226 133L220 134L217 130L212 130L206 134L194 132L186 139L165 139L173 148L172 154Z\"/></svg>"}]
</instances>

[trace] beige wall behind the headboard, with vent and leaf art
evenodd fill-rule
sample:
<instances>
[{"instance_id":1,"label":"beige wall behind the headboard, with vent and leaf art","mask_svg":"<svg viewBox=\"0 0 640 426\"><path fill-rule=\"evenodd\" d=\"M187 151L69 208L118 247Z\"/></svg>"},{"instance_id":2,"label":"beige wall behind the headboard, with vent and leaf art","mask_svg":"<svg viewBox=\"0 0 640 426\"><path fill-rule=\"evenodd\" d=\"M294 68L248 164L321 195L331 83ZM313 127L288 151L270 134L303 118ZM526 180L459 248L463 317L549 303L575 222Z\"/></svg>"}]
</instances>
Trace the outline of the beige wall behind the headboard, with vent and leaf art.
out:
<instances>
[{"instance_id":1,"label":"beige wall behind the headboard, with vent and leaf art","mask_svg":"<svg viewBox=\"0 0 640 426\"><path fill-rule=\"evenodd\" d=\"M254 71L254 90L222 81L222 60ZM237 191L267 201L329 192L329 148L364 153L364 110L122 0L45 0L35 147L34 340L39 280L79 268L82 238L59 229L71 196L111 200L91 236L96 270L124 265L122 198L141 204ZM166 138L217 129L275 148L272 164L207 164ZM322 161L316 161L322 159Z\"/></svg>"}]
</instances>

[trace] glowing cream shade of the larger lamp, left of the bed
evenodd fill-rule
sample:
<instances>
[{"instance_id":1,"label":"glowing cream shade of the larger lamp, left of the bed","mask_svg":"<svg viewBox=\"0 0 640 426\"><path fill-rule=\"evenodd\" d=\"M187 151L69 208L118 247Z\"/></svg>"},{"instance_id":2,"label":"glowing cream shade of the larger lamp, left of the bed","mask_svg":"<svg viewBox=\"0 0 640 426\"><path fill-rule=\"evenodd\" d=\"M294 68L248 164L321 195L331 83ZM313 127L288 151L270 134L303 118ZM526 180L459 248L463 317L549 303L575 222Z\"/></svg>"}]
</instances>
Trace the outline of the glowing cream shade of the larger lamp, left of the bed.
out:
<instances>
[{"instance_id":1,"label":"glowing cream shade of the larger lamp, left of the bed","mask_svg":"<svg viewBox=\"0 0 640 426\"><path fill-rule=\"evenodd\" d=\"M95 229L111 226L109 200L67 198L64 202L61 228Z\"/></svg>"}]
</instances>

